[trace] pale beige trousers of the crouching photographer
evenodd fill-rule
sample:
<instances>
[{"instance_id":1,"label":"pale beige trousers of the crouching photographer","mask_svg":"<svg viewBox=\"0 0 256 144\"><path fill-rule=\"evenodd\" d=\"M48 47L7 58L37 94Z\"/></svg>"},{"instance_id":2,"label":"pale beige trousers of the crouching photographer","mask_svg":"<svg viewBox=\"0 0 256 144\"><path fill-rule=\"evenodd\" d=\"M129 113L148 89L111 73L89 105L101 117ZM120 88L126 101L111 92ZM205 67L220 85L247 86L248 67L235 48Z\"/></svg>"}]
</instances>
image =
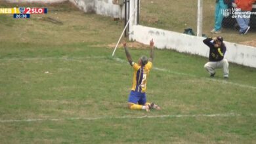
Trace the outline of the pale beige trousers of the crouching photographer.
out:
<instances>
[{"instance_id":1,"label":"pale beige trousers of the crouching photographer","mask_svg":"<svg viewBox=\"0 0 256 144\"><path fill-rule=\"evenodd\" d=\"M204 65L204 68L211 74L215 73L215 69L223 67L223 77L228 77L228 61L223 59L219 62L207 62Z\"/></svg>"}]
</instances>

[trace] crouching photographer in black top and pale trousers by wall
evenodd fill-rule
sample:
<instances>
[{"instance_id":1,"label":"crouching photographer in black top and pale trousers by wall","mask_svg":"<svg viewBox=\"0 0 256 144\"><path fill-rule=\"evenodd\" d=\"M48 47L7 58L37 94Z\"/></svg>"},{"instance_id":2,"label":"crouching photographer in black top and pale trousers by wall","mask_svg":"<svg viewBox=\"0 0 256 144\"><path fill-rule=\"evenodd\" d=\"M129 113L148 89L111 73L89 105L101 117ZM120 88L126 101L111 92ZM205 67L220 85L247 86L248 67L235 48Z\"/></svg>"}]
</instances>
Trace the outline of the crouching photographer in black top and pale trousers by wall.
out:
<instances>
[{"instance_id":1,"label":"crouching photographer in black top and pale trousers by wall","mask_svg":"<svg viewBox=\"0 0 256 144\"><path fill-rule=\"evenodd\" d=\"M224 79L228 79L228 61L224 59L226 46L223 43L223 37L206 38L203 40L203 43L210 48L209 62L204 65L210 77L215 76L215 69L223 67L223 77Z\"/></svg>"}]
</instances>

